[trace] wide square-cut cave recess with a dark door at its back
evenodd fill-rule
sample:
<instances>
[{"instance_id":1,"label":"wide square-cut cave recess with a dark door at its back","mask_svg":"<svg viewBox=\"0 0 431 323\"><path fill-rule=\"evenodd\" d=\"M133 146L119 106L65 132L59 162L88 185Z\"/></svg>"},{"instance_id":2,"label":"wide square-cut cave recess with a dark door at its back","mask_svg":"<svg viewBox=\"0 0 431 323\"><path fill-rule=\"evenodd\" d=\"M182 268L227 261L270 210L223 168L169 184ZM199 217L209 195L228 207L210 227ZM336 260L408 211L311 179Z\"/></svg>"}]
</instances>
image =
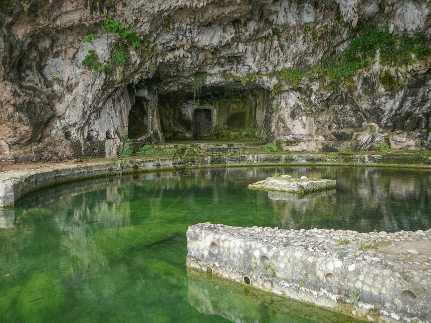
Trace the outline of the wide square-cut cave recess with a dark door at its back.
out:
<instances>
[{"instance_id":1,"label":"wide square-cut cave recess with a dark door at its back","mask_svg":"<svg viewBox=\"0 0 431 323\"><path fill-rule=\"evenodd\" d=\"M250 83L250 82L249 82ZM158 95L161 130L166 140L243 138L263 128L270 93L259 85L231 83Z\"/></svg>"}]
</instances>

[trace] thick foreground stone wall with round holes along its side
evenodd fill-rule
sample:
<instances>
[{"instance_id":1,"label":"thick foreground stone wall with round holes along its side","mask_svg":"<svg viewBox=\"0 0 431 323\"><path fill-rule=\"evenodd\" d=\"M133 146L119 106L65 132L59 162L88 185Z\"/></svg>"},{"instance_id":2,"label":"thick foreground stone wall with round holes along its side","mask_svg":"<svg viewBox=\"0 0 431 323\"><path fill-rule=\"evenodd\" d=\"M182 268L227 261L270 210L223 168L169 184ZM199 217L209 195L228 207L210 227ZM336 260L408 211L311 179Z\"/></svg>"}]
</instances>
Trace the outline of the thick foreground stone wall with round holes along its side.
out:
<instances>
[{"instance_id":1,"label":"thick foreground stone wall with round holes along its side","mask_svg":"<svg viewBox=\"0 0 431 323\"><path fill-rule=\"evenodd\" d=\"M429 323L430 240L430 230L388 234L199 223L187 230L187 266L370 321Z\"/></svg>"}]
</instances>

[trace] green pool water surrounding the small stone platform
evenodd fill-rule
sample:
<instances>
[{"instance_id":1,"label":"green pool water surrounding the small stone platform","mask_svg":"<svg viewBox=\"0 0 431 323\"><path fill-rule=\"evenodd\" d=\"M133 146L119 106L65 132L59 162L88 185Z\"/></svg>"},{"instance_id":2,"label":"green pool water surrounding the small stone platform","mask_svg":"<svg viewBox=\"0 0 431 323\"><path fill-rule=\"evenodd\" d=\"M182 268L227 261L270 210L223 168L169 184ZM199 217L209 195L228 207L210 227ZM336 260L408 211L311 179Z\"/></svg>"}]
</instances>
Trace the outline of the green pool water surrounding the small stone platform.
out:
<instances>
[{"instance_id":1,"label":"green pool water surrounding the small stone platform","mask_svg":"<svg viewBox=\"0 0 431 323\"><path fill-rule=\"evenodd\" d=\"M247 185L275 168L98 178L55 186L4 211L1 322L355 322L186 269L198 222L360 232L429 229L431 173L313 167L334 191L272 200ZM278 167L307 175L306 167ZM280 198L276 198L280 199ZM1 219L0 219L1 220ZM151 245L153 242L175 237Z\"/></svg>"}]
</instances>

